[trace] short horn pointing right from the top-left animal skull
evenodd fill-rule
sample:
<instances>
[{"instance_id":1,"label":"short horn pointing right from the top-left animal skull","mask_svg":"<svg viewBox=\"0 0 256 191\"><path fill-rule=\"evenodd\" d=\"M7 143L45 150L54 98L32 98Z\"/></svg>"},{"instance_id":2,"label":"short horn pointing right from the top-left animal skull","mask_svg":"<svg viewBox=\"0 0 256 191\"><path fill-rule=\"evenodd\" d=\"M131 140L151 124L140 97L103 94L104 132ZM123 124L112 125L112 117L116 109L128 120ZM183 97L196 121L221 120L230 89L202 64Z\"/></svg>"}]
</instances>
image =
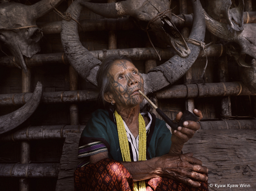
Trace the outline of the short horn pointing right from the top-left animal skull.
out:
<instances>
[{"instance_id":1,"label":"short horn pointing right from the top-left animal skull","mask_svg":"<svg viewBox=\"0 0 256 191\"><path fill-rule=\"evenodd\" d=\"M60 5L61 2L63 2L63 0L42 0L29 6L29 9L31 10L32 17L36 20L51 11L53 9L52 6L56 7Z\"/></svg>"}]
</instances>

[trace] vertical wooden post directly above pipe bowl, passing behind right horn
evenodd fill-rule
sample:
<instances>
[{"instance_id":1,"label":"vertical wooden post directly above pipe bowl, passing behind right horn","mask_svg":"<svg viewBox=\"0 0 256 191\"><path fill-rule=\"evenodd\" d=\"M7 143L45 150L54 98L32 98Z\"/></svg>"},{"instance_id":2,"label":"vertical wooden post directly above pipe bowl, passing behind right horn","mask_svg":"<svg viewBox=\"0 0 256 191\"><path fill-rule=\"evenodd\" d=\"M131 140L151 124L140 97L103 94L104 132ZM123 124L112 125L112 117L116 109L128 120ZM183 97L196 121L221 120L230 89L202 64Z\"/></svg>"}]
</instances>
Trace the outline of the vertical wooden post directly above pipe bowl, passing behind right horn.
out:
<instances>
[{"instance_id":1,"label":"vertical wooden post directly above pipe bowl, passing behind right horn","mask_svg":"<svg viewBox=\"0 0 256 191\"><path fill-rule=\"evenodd\" d=\"M187 0L179 0L179 5L180 5L180 14L188 14L188 5L187 5ZM188 27L184 27L181 30L181 35L183 35L184 38L189 37L189 29ZM193 83L192 79L192 67L187 71L185 74L185 83L186 84L191 84ZM185 108L189 112L193 112L193 109L195 109L195 103L193 98L188 98L185 101Z\"/></svg>"}]
</instances>

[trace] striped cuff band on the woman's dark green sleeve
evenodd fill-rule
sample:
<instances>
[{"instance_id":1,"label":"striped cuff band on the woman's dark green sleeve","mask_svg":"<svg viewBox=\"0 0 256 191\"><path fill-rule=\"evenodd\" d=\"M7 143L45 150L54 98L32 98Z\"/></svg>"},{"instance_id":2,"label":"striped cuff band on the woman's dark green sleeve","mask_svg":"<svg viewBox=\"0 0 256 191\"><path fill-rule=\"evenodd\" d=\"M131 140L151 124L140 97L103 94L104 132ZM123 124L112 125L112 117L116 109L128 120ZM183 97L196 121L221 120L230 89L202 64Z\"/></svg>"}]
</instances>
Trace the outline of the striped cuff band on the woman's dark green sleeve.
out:
<instances>
[{"instance_id":1,"label":"striped cuff band on the woman's dark green sleeve","mask_svg":"<svg viewBox=\"0 0 256 191\"><path fill-rule=\"evenodd\" d=\"M103 142L101 141L91 142L79 147L78 158L95 155L105 151L108 151L108 148Z\"/></svg>"}]
</instances>

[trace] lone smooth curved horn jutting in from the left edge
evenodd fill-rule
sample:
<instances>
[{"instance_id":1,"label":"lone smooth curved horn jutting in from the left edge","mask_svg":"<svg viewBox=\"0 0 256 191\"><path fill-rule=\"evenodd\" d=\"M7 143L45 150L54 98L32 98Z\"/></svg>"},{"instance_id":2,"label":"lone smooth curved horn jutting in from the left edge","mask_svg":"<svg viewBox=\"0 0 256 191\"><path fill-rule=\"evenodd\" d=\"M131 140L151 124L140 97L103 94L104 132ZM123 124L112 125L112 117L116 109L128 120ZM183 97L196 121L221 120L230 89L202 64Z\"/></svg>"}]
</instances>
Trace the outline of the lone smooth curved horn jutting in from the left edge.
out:
<instances>
[{"instance_id":1,"label":"lone smooth curved horn jutting in from the left edge","mask_svg":"<svg viewBox=\"0 0 256 191\"><path fill-rule=\"evenodd\" d=\"M42 95L43 86L42 83L38 82L34 94L32 94L23 107L5 116L0 116L0 134L13 130L26 121L35 112L36 108L38 108Z\"/></svg>"}]
</instances>

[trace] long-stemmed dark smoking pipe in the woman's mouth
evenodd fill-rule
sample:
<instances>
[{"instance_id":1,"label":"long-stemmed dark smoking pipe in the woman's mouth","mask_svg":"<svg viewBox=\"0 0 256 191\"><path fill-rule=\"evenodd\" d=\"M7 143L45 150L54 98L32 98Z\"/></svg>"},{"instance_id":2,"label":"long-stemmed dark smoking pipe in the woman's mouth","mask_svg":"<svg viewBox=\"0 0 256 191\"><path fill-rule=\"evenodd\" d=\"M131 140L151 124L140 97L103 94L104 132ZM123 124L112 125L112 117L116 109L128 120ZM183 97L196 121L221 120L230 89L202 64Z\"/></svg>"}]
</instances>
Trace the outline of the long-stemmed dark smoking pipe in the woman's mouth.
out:
<instances>
[{"instance_id":1,"label":"long-stemmed dark smoking pipe in the woman's mouth","mask_svg":"<svg viewBox=\"0 0 256 191\"><path fill-rule=\"evenodd\" d=\"M139 94L141 94L143 97L146 98L146 100L152 105L152 107L155 108L156 112L158 112L158 114L163 118L163 120L174 130L177 130L177 128L179 126L183 126L184 121L197 122L198 120L200 120L200 118L197 117L195 114L193 114L193 113L187 111L187 109L185 109L180 121L178 123L173 122L169 117L167 117L166 114L164 114L164 112L161 111L161 109L156 107L156 105L154 103L152 103L152 101L150 99L148 99L148 97L146 95L144 95L141 90L139 90Z\"/></svg>"}]
</instances>

